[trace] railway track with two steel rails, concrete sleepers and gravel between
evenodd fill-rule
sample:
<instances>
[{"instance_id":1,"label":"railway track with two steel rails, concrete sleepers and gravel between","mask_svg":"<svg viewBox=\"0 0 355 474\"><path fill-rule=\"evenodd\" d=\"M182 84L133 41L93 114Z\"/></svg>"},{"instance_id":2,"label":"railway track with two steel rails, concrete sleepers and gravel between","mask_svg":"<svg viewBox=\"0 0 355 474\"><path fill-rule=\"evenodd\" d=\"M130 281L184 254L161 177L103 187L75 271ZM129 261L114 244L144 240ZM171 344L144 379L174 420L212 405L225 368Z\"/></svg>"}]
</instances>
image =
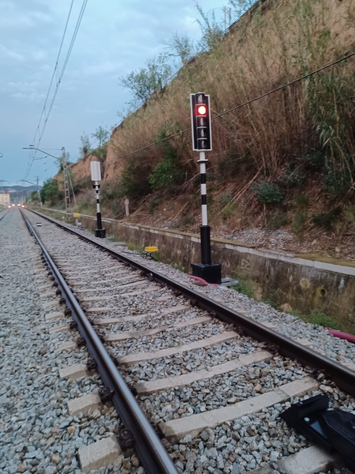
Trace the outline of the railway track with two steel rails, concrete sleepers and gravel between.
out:
<instances>
[{"instance_id":1,"label":"railway track with two steel rails, concrete sleepers and gravel between","mask_svg":"<svg viewBox=\"0 0 355 474\"><path fill-rule=\"evenodd\" d=\"M134 446L146 472L293 474L341 467L287 428L279 414L322 391L334 395L333 406L354 410L354 400L342 392L355 391L355 372L346 361L158 273L140 257L38 213L22 215L38 233L67 308L53 302L57 308L46 314L57 350L66 355L62 376L98 370L106 397L129 427L118 437L121 448ZM38 216L42 226L36 228ZM96 362L88 365L82 345ZM75 401L81 412L92 408L92 398L84 398Z\"/></svg>"}]
</instances>

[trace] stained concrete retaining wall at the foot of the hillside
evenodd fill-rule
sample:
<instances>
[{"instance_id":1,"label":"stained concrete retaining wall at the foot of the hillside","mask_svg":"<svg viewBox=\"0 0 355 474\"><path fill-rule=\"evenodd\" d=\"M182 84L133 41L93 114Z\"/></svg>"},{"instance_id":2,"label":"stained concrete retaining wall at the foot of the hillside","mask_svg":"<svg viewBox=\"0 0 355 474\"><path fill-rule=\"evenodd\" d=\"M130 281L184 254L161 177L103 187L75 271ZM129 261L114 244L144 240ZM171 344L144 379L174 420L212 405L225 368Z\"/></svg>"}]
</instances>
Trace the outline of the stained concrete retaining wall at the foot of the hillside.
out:
<instances>
[{"instance_id":1,"label":"stained concrete retaining wall at the foot of the hillside","mask_svg":"<svg viewBox=\"0 0 355 474\"><path fill-rule=\"evenodd\" d=\"M51 212L53 215L53 212ZM81 216L83 227L93 230L96 219ZM189 273L200 262L199 235L103 219L107 235L136 247L158 246L160 260ZM223 276L250 281L257 299L284 310L308 313L320 310L348 322L354 314L355 263L266 250L243 242L213 238L212 260L222 264Z\"/></svg>"}]
</instances>

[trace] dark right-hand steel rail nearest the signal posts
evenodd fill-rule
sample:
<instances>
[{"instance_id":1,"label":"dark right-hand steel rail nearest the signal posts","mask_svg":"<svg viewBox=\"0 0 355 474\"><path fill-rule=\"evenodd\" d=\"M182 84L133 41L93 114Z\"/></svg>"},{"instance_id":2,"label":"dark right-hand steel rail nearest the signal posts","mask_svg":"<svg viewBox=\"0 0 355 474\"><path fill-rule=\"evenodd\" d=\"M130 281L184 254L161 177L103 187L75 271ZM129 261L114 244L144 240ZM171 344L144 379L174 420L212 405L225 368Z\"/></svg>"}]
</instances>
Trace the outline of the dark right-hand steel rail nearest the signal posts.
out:
<instances>
[{"instance_id":1,"label":"dark right-hand steel rail nearest the signal posts","mask_svg":"<svg viewBox=\"0 0 355 474\"><path fill-rule=\"evenodd\" d=\"M200 308L213 312L220 319L226 321L227 323L233 324L241 328L248 336L257 339L258 341L266 342L267 344L276 346L279 348L279 351L282 355L289 357L290 359L298 360L302 365L309 365L312 368L319 370L323 374L326 374L332 378L334 382L337 383L346 392L355 395L355 371L342 365L327 356L323 356L318 352L310 349L307 346L302 346L302 344L296 342L290 337L279 334L278 332L267 328L261 323L254 321L253 319L244 316L238 311L234 311L227 306L224 306L201 293L195 292L191 288L186 287L182 283L178 283L171 278L149 268L148 266L141 264L133 259L129 258L127 255L116 252L102 244L97 242L88 236L80 234L73 228L68 228L64 226L61 222L56 221L55 219L46 216L40 212L30 210L38 216L43 217L44 219L49 220L56 226L70 232L71 234L94 244L101 250L105 250L114 258L123 262L124 264L129 264L131 267L144 272L147 275L150 275L151 279L160 283L162 285L167 285L174 292L182 294L186 299L193 301Z\"/></svg>"}]
</instances>

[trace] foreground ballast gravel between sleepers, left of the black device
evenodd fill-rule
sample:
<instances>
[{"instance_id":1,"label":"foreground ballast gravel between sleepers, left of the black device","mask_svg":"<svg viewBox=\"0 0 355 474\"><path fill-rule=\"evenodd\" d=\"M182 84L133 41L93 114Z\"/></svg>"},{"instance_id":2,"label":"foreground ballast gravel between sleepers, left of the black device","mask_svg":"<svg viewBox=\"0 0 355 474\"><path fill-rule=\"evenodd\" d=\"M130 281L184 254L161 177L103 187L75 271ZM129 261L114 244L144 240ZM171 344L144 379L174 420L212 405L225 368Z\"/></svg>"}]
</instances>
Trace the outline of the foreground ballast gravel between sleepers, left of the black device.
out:
<instances>
[{"instance_id":1,"label":"foreground ballast gravel between sleepers, left of the black device","mask_svg":"<svg viewBox=\"0 0 355 474\"><path fill-rule=\"evenodd\" d=\"M290 456L310 443L298 436L292 428L280 419L280 413L293 403L319 394L292 398L285 403L261 410L260 413L227 421L221 426L206 428L198 436L187 434L177 444L167 443L168 451L176 459L180 473L242 474L258 467L271 466L283 473L277 465L283 456ZM337 408L351 411L348 399L331 403ZM348 469L335 470L341 474L352 474ZM323 473L319 473L323 474Z\"/></svg>"}]
</instances>

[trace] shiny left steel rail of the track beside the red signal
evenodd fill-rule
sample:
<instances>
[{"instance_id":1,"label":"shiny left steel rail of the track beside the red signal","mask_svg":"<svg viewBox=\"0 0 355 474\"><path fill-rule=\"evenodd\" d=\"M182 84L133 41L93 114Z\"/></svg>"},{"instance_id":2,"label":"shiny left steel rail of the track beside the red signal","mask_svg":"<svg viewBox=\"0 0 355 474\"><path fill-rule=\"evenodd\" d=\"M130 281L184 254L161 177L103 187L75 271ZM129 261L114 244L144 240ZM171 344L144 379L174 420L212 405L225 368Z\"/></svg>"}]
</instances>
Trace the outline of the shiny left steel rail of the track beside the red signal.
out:
<instances>
[{"instance_id":1,"label":"shiny left steel rail of the track beside the red signal","mask_svg":"<svg viewBox=\"0 0 355 474\"><path fill-rule=\"evenodd\" d=\"M98 334L91 326L52 257L45 249L41 239L35 233L34 228L24 213L21 212L21 214L29 232L35 237L38 245L41 247L44 260L50 268L55 283L58 284L58 289L62 292L62 298L64 298L67 308L71 310L72 319L78 324L80 335L85 339L85 345L90 356L97 364L97 371L104 385L112 394L111 401L119 418L133 437L133 446L145 472L148 474L177 474L177 469L168 452L161 444L158 435L145 417L133 393L124 382L122 375L107 353Z\"/></svg>"}]
</instances>

